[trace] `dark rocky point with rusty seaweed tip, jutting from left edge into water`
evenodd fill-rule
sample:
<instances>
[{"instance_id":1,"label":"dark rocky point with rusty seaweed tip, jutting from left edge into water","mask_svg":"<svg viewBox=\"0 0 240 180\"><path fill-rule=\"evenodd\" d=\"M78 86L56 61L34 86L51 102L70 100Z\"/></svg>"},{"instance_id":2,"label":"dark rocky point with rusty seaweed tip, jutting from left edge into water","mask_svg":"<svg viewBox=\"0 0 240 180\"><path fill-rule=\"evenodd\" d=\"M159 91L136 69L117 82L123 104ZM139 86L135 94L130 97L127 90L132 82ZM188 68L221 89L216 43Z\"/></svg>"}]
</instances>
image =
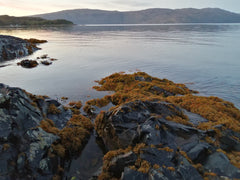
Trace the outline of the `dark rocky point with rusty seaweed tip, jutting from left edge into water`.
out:
<instances>
[{"instance_id":1,"label":"dark rocky point with rusty seaweed tip, jutting from left edge into water","mask_svg":"<svg viewBox=\"0 0 240 180\"><path fill-rule=\"evenodd\" d=\"M0 35L0 61L11 60L32 54L40 49L36 45L47 42L37 39L21 39L13 36Z\"/></svg>"}]
</instances>

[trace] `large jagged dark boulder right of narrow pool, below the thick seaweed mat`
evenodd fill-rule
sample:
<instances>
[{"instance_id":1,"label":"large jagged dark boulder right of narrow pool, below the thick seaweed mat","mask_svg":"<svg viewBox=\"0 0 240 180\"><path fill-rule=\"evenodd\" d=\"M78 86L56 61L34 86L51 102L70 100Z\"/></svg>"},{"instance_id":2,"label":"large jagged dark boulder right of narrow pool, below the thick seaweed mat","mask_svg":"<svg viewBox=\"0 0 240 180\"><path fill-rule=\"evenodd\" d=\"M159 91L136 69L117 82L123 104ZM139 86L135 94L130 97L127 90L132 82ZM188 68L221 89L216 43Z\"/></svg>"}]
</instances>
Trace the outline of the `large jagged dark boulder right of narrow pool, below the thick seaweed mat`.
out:
<instances>
[{"instance_id":1,"label":"large jagged dark boulder right of narrow pool, below the thick seaweed mat","mask_svg":"<svg viewBox=\"0 0 240 180\"><path fill-rule=\"evenodd\" d=\"M135 100L102 112L95 129L110 151L99 179L240 178L240 169L220 149L238 150L239 134L223 126L201 129L208 121L164 101ZM125 156L116 171L112 162Z\"/></svg>"}]
</instances>

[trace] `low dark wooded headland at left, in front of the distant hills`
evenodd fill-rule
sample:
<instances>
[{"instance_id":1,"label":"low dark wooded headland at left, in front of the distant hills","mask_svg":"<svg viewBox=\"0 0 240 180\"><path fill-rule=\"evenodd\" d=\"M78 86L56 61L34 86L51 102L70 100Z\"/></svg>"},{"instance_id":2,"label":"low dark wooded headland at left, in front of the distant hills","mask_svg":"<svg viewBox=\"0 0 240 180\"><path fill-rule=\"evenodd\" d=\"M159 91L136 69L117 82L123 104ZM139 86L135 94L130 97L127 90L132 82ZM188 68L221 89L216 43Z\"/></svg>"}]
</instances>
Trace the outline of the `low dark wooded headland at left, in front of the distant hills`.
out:
<instances>
[{"instance_id":1,"label":"low dark wooded headland at left, in front of the distant hills","mask_svg":"<svg viewBox=\"0 0 240 180\"><path fill-rule=\"evenodd\" d=\"M42 25L70 25L70 21L56 18L56 20L46 20L40 17L14 17L0 16L0 26L42 26Z\"/></svg>"}]
</instances>

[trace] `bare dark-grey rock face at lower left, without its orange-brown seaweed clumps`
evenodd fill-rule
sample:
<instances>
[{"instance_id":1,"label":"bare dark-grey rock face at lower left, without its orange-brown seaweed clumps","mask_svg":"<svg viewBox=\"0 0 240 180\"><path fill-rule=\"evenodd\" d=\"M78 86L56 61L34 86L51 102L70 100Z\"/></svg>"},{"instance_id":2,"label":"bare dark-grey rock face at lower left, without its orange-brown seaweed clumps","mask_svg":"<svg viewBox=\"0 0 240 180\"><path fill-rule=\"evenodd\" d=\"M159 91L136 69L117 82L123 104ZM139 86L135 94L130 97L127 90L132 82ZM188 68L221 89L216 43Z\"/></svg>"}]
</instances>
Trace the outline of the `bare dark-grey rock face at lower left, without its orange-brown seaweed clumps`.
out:
<instances>
[{"instance_id":1,"label":"bare dark-grey rock face at lower left, without its orange-brown seaweed clumps","mask_svg":"<svg viewBox=\"0 0 240 180\"><path fill-rule=\"evenodd\" d=\"M51 179L57 173L58 160L48 151L60 138L38 127L49 103L63 108L0 84L0 179ZM71 114L61 110L58 122L66 124Z\"/></svg>"}]
</instances>

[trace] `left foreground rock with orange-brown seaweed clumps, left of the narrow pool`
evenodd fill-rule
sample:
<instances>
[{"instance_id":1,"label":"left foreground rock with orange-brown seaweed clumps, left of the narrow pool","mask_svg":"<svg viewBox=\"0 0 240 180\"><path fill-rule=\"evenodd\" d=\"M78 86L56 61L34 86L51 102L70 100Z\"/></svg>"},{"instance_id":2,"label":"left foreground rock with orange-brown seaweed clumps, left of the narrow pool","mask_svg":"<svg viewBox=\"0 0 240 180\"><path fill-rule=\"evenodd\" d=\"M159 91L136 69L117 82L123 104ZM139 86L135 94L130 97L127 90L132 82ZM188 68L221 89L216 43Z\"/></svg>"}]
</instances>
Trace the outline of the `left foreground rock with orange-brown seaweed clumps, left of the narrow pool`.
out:
<instances>
[{"instance_id":1,"label":"left foreground rock with orange-brown seaweed clumps, left of the narrow pool","mask_svg":"<svg viewBox=\"0 0 240 180\"><path fill-rule=\"evenodd\" d=\"M0 84L0 179L63 177L92 128L56 100Z\"/></svg>"}]
</instances>

